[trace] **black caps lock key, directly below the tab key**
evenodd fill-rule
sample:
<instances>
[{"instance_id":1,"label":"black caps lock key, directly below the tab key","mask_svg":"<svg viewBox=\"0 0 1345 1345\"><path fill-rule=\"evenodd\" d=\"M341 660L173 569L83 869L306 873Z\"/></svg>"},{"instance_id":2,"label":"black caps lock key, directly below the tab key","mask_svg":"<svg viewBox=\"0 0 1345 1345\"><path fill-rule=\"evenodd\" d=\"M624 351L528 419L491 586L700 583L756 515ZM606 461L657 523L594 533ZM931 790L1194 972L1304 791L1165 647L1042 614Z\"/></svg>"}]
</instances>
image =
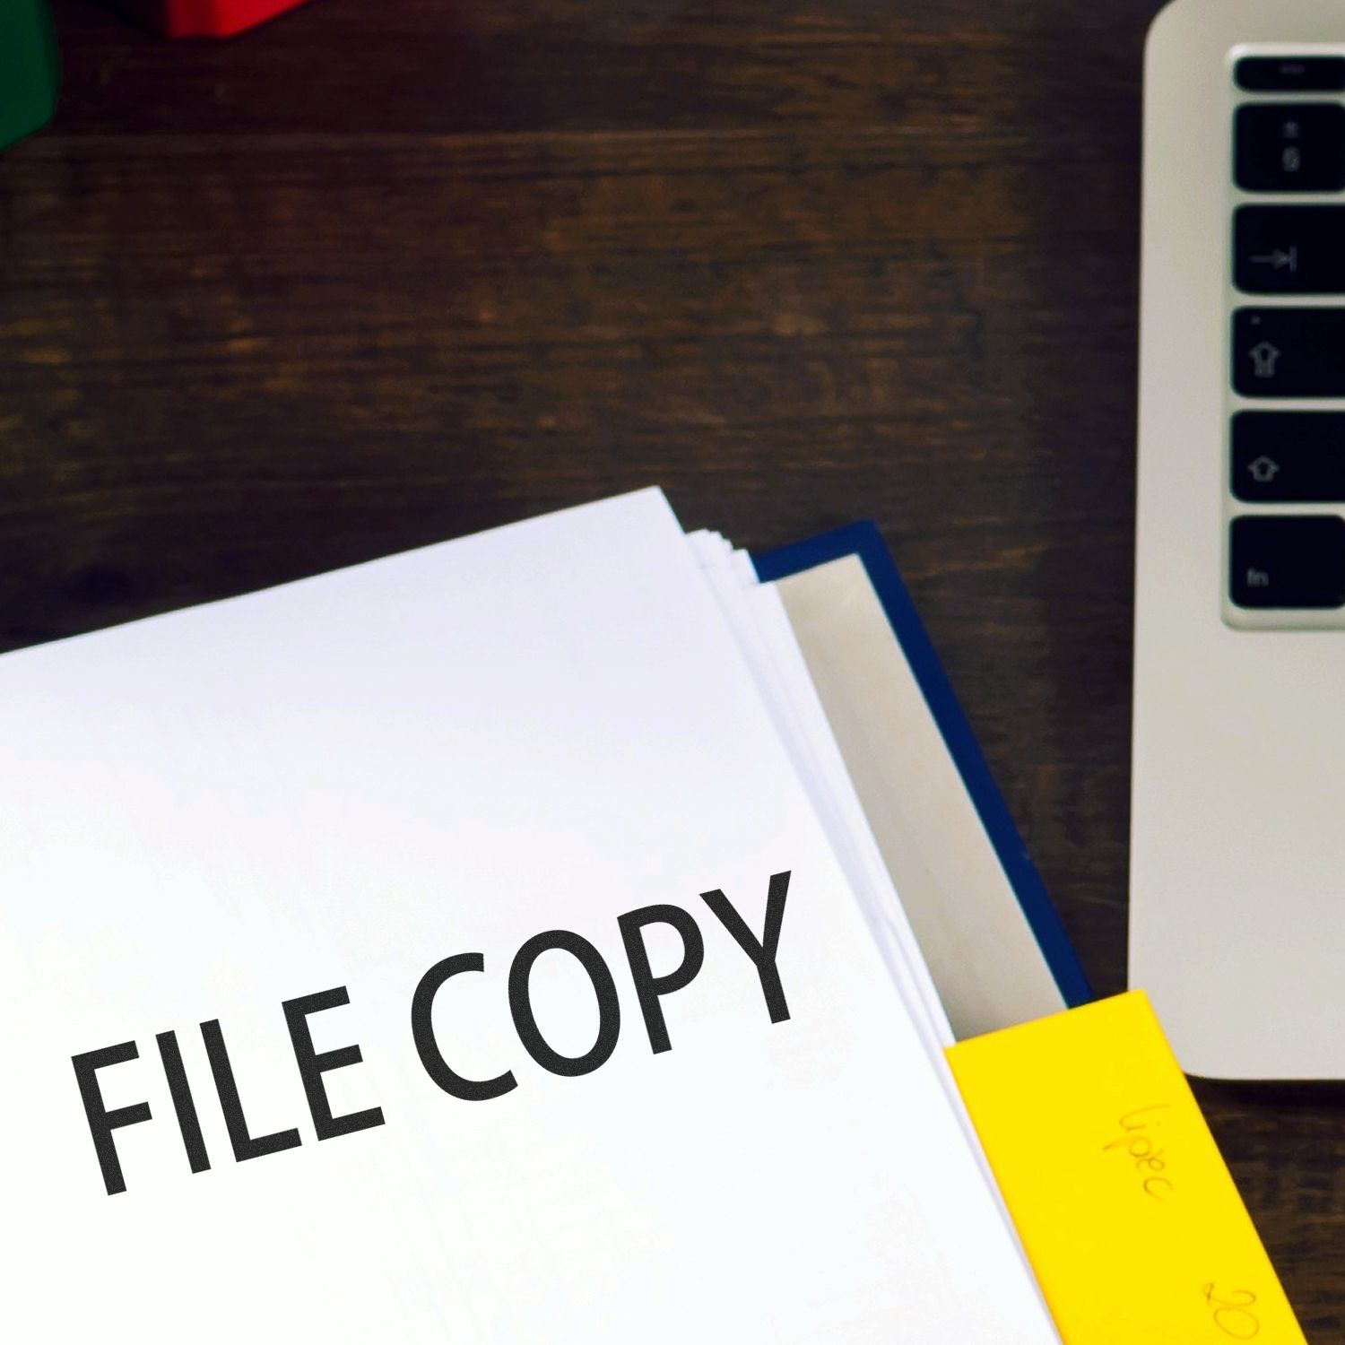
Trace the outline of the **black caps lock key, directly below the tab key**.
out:
<instances>
[{"instance_id":1,"label":"black caps lock key, directly below the tab key","mask_svg":"<svg viewBox=\"0 0 1345 1345\"><path fill-rule=\"evenodd\" d=\"M1345 308L1239 308L1233 387L1243 397L1345 397Z\"/></svg>"}]
</instances>

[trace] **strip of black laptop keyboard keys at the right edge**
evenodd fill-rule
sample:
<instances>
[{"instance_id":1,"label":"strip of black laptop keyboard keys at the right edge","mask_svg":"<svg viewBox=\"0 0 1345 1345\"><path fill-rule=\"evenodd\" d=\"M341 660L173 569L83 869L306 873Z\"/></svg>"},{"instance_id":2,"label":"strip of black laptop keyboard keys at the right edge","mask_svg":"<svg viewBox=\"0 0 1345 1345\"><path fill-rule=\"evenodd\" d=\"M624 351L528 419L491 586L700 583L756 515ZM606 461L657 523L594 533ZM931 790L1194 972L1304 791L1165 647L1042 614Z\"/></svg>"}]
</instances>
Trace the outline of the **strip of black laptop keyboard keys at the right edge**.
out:
<instances>
[{"instance_id":1,"label":"strip of black laptop keyboard keys at the right edge","mask_svg":"<svg viewBox=\"0 0 1345 1345\"><path fill-rule=\"evenodd\" d=\"M1233 81L1228 596L1293 625L1345 616L1345 410L1295 404L1345 401L1345 55Z\"/></svg>"}]
</instances>

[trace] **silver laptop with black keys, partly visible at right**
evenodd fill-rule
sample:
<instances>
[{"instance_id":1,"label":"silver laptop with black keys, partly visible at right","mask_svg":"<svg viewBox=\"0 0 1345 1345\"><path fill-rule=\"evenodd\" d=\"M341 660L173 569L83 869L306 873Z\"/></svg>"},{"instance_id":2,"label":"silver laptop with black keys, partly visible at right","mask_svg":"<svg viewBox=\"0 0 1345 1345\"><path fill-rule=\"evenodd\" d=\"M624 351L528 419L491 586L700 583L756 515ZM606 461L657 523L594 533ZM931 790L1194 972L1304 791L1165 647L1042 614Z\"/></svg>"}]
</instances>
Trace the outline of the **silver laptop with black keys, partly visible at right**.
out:
<instances>
[{"instance_id":1,"label":"silver laptop with black keys, partly visible at right","mask_svg":"<svg viewBox=\"0 0 1345 1345\"><path fill-rule=\"evenodd\" d=\"M1345 1079L1345 4L1176 0L1145 86L1130 981Z\"/></svg>"}]
</instances>

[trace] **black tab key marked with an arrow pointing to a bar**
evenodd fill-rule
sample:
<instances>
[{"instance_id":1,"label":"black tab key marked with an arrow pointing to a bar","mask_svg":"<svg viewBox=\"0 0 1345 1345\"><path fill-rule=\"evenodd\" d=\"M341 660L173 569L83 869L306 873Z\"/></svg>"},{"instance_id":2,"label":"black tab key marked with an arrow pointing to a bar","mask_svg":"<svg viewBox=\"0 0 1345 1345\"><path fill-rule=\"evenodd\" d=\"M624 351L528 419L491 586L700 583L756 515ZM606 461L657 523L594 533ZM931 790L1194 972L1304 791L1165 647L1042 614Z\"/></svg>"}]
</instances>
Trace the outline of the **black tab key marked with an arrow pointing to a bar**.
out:
<instances>
[{"instance_id":1,"label":"black tab key marked with an arrow pointing to a bar","mask_svg":"<svg viewBox=\"0 0 1345 1345\"><path fill-rule=\"evenodd\" d=\"M1243 206L1233 284L1250 295L1345 295L1345 206Z\"/></svg>"}]
</instances>

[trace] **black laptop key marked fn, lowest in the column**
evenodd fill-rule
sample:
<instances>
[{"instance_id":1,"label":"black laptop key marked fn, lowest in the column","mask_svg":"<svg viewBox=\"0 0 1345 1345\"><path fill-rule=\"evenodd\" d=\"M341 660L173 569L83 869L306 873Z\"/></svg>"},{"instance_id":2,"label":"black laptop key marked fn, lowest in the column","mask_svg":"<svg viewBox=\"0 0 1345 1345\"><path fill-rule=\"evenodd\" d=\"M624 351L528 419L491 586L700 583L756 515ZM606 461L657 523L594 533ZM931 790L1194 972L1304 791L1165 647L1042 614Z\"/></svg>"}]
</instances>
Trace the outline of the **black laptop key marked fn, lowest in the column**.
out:
<instances>
[{"instance_id":1,"label":"black laptop key marked fn, lowest in the column","mask_svg":"<svg viewBox=\"0 0 1345 1345\"><path fill-rule=\"evenodd\" d=\"M1229 543L1229 593L1237 607L1345 605L1345 519L1235 518Z\"/></svg>"}]
</instances>

